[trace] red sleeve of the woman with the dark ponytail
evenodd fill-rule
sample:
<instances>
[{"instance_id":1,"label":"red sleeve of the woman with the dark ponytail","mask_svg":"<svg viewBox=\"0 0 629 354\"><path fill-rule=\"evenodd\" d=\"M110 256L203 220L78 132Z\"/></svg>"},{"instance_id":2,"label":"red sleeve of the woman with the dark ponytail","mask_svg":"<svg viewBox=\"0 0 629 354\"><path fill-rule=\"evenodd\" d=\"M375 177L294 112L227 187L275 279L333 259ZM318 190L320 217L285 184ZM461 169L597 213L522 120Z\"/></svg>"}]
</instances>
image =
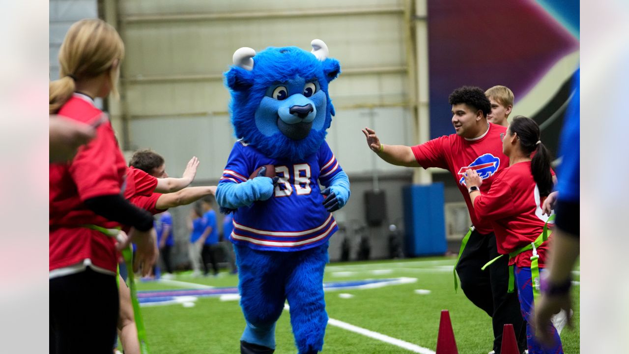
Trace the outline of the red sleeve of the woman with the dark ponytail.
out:
<instances>
[{"instance_id":1,"label":"red sleeve of the woman with the dark ponytail","mask_svg":"<svg viewBox=\"0 0 629 354\"><path fill-rule=\"evenodd\" d=\"M474 212L479 219L498 220L514 214L513 193L506 181L496 178L486 194L474 200Z\"/></svg>"}]
</instances>

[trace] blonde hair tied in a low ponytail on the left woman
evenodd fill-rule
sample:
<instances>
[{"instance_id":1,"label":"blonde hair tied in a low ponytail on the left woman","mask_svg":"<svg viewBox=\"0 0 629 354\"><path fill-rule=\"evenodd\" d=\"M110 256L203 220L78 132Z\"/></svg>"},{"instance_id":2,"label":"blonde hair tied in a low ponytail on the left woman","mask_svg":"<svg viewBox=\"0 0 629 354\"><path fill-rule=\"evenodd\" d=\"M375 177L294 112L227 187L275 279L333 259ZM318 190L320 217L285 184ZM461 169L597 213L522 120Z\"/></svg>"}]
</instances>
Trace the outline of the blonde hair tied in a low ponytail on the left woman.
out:
<instances>
[{"instance_id":1,"label":"blonde hair tied in a low ponytail on the left woman","mask_svg":"<svg viewBox=\"0 0 629 354\"><path fill-rule=\"evenodd\" d=\"M111 91L118 96L116 83L125 45L113 26L103 20L75 22L65 34L59 49L59 76L49 85L48 111L57 113L70 99L76 83L108 72Z\"/></svg>"}]
</instances>

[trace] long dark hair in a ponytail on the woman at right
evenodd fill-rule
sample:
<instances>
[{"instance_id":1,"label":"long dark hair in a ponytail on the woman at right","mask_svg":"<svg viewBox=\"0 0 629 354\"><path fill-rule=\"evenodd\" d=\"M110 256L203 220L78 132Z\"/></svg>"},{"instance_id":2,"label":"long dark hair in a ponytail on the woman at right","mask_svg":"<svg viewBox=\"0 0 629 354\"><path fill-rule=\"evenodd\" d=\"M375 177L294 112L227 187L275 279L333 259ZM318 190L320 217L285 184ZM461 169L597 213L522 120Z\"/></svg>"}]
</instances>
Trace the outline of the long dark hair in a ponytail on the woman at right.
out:
<instances>
[{"instance_id":1,"label":"long dark hair in a ponytail on the woman at right","mask_svg":"<svg viewBox=\"0 0 629 354\"><path fill-rule=\"evenodd\" d=\"M541 142L540 127L531 118L518 117L513 118L509 124L511 133L516 133L520 141L520 147L523 152L528 154L535 153L531 161L531 173L533 180L537 184L542 197L550 194L553 188L552 174L550 173L550 152Z\"/></svg>"}]
</instances>

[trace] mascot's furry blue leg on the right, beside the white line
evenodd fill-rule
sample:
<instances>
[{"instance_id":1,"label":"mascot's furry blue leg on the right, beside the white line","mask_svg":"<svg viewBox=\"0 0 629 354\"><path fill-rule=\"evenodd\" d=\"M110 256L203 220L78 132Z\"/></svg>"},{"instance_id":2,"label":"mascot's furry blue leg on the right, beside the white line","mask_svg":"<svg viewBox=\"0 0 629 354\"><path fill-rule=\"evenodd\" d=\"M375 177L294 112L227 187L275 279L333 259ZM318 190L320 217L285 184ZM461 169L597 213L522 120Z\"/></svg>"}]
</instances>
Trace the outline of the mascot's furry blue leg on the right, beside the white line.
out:
<instances>
[{"instance_id":1,"label":"mascot's furry blue leg on the right, beside the white line","mask_svg":"<svg viewBox=\"0 0 629 354\"><path fill-rule=\"evenodd\" d=\"M328 324L323 297L323 270L328 261L328 244L296 252L294 257L294 267L286 283L292 333L299 354L314 354L323 348Z\"/></svg>"}]
</instances>

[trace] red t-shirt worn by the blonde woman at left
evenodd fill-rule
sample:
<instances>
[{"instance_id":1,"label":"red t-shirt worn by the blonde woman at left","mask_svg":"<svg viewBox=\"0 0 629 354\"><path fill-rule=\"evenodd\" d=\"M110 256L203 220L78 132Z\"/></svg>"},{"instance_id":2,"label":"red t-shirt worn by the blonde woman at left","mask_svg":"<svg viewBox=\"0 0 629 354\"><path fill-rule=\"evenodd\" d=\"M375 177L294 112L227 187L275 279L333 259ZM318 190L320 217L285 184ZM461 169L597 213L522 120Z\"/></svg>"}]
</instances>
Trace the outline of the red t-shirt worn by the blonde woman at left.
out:
<instances>
[{"instance_id":1,"label":"red t-shirt worn by the blonde woman at left","mask_svg":"<svg viewBox=\"0 0 629 354\"><path fill-rule=\"evenodd\" d=\"M81 94L74 94L58 111L61 116L83 123L96 122L102 113ZM116 273L116 241L81 226L119 225L95 214L83 202L119 194L125 173L125 159L109 122L99 125L96 137L80 147L70 163L50 164L49 270L90 260L92 265Z\"/></svg>"}]
</instances>

